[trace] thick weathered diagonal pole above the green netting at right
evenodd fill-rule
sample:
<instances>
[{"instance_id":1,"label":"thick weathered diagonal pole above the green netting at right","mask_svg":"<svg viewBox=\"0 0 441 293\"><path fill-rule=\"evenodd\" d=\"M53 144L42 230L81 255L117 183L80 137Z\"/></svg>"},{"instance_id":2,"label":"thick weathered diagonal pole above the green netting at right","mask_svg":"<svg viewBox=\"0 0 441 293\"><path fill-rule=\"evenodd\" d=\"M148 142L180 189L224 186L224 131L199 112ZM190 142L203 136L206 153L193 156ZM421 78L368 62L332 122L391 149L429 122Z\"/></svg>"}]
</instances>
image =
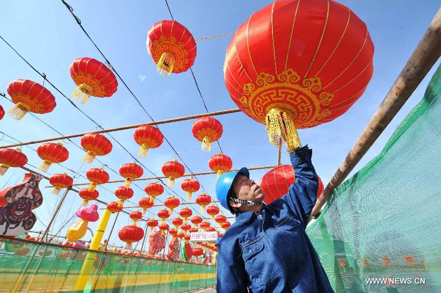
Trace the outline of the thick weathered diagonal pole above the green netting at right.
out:
<instances>
[{"instance_id":1,"label":"thick weathered diagonal pole above the green netting at right","mask_svg":"<svg viewBox=\"0 0 441 293\"><path fill-rule=\"evenodd\" d=\"M441 8L417 48L312 209L315 216L398 113L441 54ZM311 219L311 218L310 218Z\"/></svg>"}]
</instances>

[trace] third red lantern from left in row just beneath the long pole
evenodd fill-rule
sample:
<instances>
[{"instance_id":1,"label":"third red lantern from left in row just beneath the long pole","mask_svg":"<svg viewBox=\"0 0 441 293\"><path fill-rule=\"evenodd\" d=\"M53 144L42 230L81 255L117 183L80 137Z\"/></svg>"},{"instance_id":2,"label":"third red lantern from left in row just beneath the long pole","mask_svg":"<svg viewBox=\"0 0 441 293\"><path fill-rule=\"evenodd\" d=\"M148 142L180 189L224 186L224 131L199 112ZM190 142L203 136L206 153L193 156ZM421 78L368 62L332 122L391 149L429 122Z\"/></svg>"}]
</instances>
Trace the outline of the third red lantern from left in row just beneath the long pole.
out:
<instances>
[{"instance_id":1,"label":"third red lantern from left in row just beneath the long pole","mask_svg":"<svg viewBox=\"0 0 441 293\"><path fill-rule=\"evenodd\" d=\"M81 137L81 146L87 152L85 163L92 163L95 156L105 156L112 151L112 143L104 135L89 133Z\"/></svg>"}]
</instances>

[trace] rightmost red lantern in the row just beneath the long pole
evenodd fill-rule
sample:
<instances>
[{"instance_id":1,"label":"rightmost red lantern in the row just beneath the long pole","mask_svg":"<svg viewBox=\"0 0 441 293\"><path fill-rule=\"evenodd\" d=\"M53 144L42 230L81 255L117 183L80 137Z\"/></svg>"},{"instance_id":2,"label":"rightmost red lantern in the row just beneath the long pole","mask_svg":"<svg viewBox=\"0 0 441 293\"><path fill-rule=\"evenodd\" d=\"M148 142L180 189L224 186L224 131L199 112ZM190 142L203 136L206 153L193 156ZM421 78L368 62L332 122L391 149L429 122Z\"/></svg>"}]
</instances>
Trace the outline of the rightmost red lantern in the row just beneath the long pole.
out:
<instances>
[{"instance_id":1,"label":"rightmost red lantern in the row just beneath the long pole","mask_svg":"<svg viewBox=\"0 0 441 293\"><path fill-rule=\"evenodd\" d=\"M211 143L222 135L222 124L213 117L198 118L192 126L193 136L202 142L202 151L211 151Z\"/></svg>"}]
</instances>

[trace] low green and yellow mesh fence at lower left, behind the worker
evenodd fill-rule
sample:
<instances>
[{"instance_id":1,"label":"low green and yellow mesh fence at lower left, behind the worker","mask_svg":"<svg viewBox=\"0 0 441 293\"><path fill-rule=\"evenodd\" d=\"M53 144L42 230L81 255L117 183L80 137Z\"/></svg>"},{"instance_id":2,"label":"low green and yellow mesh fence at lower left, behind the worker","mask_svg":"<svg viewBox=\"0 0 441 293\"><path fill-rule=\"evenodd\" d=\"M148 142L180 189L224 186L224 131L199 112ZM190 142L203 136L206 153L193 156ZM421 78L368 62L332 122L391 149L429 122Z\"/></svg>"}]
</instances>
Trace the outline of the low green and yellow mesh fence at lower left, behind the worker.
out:
<instances>
[{"instance_id":1,"label":"low green and yellow mesh fence at lower left, behind the worker","mask_svg":"<svg viewBox=\"0 0 441 293\"><path fill-rule=\"evenodd\" d=\"M17 255L17 248L26 254ZM83 292L73 288L87 258L94 264L84 292L175 293L216 284L214 266L5 240L0 248L0 292Z\"/></svg>"}]
</instances>

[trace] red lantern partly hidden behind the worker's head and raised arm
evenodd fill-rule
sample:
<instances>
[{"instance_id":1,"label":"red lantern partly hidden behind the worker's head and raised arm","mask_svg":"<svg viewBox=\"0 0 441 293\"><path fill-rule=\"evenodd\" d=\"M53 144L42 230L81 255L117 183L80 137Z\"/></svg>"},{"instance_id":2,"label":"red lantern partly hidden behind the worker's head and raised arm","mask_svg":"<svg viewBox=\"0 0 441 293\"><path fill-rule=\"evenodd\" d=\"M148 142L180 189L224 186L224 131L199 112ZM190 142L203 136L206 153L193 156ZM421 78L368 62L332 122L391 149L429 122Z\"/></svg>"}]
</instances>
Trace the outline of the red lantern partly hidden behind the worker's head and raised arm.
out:
<instances>
[{"instance_id":1,"label":"red lantern partly hidden behind the worker's head and raised arm","mask_svg":"<svg viewBox=\"0 0 441 293\"><path fill-rule=\"evenodd\" d=\"M280 165L268 171L260 180L259 186L265 193L264 203L270 204L288 193L294 184L294 168L292 165ZM323 182L319 178L317 197L323 192Z\"/></svg>"}]
</instances>

